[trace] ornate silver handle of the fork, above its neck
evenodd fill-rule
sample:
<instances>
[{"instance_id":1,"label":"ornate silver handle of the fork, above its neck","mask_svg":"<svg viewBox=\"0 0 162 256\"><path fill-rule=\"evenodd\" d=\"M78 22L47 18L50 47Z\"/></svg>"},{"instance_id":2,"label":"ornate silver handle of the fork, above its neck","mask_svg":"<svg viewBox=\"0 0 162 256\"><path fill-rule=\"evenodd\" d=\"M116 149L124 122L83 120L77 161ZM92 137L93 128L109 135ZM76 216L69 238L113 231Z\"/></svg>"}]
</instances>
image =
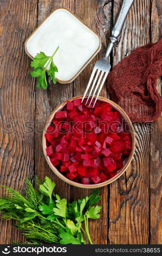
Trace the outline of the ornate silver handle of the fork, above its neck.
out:
<instances>
[{"instance_id":1,"label":"ornate silver handle of the fork, above its neck","mask_svg":"<svg viewBox=\"0 0 162 256\"><path fill-rule=\"evenodd\" d=\"M118 37L121 34L126 16L128 14L128 11L129 11L133 1L134 0L123 0L123 2L122 2L120 12L119 12L118 17L116 19L116 22L114 24L112 34L111 34L111 37L110 37L111 42L110 42L109 46L107 47L107 51L106 51L106 54L105 54L106 57L109 57L111 51L113 50L114 45L117 44L117 42L118 42Z\"/></svg>"}]
</instances>

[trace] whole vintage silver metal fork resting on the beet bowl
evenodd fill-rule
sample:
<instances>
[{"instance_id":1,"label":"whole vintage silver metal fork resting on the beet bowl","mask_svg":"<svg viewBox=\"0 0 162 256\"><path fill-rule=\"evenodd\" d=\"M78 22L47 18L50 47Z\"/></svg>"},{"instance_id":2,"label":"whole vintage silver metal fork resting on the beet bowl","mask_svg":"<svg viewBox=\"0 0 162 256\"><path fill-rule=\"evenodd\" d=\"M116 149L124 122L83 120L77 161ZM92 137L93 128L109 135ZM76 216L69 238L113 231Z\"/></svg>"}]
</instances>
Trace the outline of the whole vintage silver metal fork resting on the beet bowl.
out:
<instances>
[{"instance_id":1,"label":"whole vintage silver metal fork resting on the beet bowl","mask_svg":"<svg viewBox=\"0 0 162 256\"><path fill-rule=\"evenodd\" d=\"M94 108L94 105L95 105L95 103L97 101L97 98L100 94L100 91L103 87L104 81L105 81L105 79L106 79L106 77L109 74L109 71L111 69L111 65L110 65L110 61L108 60L108 57L109 57L110 53L112 52L114 45L117 44L117 42L118 42L118 37L121 34L126 16L128 14L128 11L129 11L133 1L134 0L123 0L120 12L118 14L118 17L116 19L115 25L114 25L113 30L112 30L112 34L111 34L111 37L110 37L110 43L109 43L109 46L107 47L105 57L103 57L102 59L97 60L96 63L95 63L95 66L93 68L92 75L90 77L88 86L87 86L86 91L84 93L84 96L82 98L82 102L83 102L83 100L84 100L84 98L85 98L85 96L86 96L86 94L87 94L87 92L88 92L88 90L91 86L92 80L94 78L91 90L89 92L89 95L88 95L88 98L87 98L87 101L86 101L86 104L87 104L88 100L91 96L91 93L92 93L94 87L96 86L95 89L94 89L92 98L90 100L90 103L89 103L89 105L91 105L92 100L95 96L95 93L96 93L96 91L97 91L97 89L100 85L100 87L98 89L98 92L97 92L97 95L96 95L96 98L95 98L95 101L93 103L93 108ZM95 73L96 73L96 76L95 76ZM100 74L100 76L99 76L99 74ZM98 80L97 80L97 78L98 78ZM101 82L101 80L102 80L102 82ZM100 84L100 82L101 82L101 84Z\"/></svg>"}]
</instances>

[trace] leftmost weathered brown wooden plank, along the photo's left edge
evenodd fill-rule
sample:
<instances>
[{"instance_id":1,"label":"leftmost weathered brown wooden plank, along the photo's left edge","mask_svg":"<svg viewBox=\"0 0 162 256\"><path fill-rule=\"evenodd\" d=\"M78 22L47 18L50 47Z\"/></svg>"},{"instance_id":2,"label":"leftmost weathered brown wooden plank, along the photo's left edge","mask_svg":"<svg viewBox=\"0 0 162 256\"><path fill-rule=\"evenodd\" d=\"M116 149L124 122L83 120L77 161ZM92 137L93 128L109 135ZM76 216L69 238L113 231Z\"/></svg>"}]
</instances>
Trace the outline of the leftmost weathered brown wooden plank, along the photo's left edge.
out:
<instances>
[{"instance_id":1,"label":"leftmost weathered brown wooden plank, along the photo's left edge","mask_svg":"<svg viewBox=\"0 0 162 256\"><path fill-rule=\"evenodd\" d=\"M34 174L34 133L25 126L34 123L35 87L24 41L36 27L37 1L1 1L0 8L0 184L22 191L25 176ZM1 220L0 244L12 241L24 238L11 222Z\"/></svg>"}]
</instances>

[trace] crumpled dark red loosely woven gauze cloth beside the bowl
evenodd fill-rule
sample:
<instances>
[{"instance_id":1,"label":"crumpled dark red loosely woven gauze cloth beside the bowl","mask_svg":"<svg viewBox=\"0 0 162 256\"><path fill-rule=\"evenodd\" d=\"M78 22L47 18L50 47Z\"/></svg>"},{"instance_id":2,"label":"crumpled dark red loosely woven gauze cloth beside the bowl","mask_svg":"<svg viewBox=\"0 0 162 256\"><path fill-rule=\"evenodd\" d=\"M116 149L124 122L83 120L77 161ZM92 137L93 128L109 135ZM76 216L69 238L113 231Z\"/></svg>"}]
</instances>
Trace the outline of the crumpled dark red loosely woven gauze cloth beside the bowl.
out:
<instances>
[{"instance_id":1,"label":"crumpled dark red loosely woven gauze cloth beside the bowl","mask_svg":"<svg viewBox=\"0 0 162 256\"><path fill-rule=\"evenodd\" d=\"M161 114L162 98L156 89L162 76L162 38L133 50L110 72L111 99L119 104L132 122L155 121Z\"/></svg>"}]
</instances>

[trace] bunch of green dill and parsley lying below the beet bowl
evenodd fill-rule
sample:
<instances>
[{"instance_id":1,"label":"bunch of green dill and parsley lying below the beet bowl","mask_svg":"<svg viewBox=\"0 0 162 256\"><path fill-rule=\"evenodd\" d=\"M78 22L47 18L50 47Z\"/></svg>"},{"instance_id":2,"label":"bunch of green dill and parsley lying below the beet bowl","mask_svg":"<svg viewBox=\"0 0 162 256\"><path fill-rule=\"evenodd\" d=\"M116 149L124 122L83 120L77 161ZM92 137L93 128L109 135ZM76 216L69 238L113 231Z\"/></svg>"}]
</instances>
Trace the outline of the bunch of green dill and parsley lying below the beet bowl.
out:
<instances>
[{"instance_id":1,"label":"bunch of green dill and parsley lying below the beet bowl","mask_svg":"<svg viewBox=\"0 0 162 256\"><path fill-rule=\"evenodd\" d=\"M53 193L55 182L48 177L43 184L36 178L36 183L39 191L26 179L24 197L2 185L7 189L7 196L0 198L1 218L15 220L15 228L23 232L30 244L86 244L86 237L92 244L88 220L100 217L101 206L94 206L100 200L99 189L68 203Z\"/></svg>"}]
</instances>

